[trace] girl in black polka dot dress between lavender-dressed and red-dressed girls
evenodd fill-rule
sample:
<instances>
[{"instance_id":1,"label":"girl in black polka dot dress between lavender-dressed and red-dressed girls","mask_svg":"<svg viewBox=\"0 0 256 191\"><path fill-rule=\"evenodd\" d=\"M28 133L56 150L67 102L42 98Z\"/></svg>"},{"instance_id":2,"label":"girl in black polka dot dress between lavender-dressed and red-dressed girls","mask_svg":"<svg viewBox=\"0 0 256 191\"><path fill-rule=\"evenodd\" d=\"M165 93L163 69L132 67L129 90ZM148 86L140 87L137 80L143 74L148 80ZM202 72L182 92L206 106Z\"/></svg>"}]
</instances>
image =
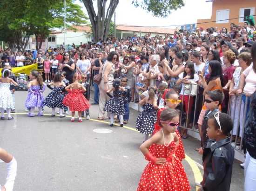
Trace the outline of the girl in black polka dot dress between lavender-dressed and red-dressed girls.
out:
<instances>
[{"instance_id":1,"label":"girl in black polka dot dress between lavender-dressed and red-dressed girls","mask_svg":"<svg viewBox=\"0 0 256 191\"><path fill-rule=\"evenodd\" d=\"M52 88L51 85L54 85L54 88ZM65 115L63 115L64 104L62 103L65 97L63 93L63 89L65 86L65 83L61 80L60 73L55 74L54 82L47 84L47 87L49 89L52 89L53 91L45 98L43 104L48 106L49 108L52 108L52 117L55 117L56 108L60 108L60 118L65 117Z\"/></svg>"}]
</instances>

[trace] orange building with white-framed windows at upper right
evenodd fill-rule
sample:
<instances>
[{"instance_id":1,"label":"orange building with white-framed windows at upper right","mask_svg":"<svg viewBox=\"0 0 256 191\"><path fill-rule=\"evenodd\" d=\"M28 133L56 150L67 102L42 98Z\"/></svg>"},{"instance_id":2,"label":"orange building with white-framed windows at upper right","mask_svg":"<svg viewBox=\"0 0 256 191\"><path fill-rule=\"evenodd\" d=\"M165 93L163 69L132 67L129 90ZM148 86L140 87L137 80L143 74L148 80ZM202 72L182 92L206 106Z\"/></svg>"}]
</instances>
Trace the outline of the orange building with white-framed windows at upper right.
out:
<instances>
[{"instance_id":1,"label":"orange building with white-framed windows at upper right","mask_svg":"<svg viewBox=\"0 0 256 191\"><path fill-rule=\"evenodd\" d=\"M210 19L198 19L197 27L204 29L222 27L229 29L230 23L243 25L245 17L255 15L256 0L207 0L212 1L212 16Z\"/></svg>"}]
</instances>

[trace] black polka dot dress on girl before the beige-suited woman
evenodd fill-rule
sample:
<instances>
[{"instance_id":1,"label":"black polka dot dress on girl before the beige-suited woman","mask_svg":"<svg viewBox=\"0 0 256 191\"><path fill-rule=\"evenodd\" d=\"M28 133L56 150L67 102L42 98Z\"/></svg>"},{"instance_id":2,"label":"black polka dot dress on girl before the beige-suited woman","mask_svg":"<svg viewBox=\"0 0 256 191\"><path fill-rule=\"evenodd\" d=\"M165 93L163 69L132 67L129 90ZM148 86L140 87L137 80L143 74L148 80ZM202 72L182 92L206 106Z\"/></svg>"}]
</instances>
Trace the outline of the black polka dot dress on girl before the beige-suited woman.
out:
<instances>
[{"instance_id":1,"label":"black polka dot dress on girl before the beige-suited woman","mask_svg":"<svg viewBox=\"0 0 256 191\"><path fill-rule=\"evenodd\" d=\"M124 101L121 90L114 92L114 96L106 102L104 111L107 111L110 114L124 115Z\"/></svg>"}]
</instances>

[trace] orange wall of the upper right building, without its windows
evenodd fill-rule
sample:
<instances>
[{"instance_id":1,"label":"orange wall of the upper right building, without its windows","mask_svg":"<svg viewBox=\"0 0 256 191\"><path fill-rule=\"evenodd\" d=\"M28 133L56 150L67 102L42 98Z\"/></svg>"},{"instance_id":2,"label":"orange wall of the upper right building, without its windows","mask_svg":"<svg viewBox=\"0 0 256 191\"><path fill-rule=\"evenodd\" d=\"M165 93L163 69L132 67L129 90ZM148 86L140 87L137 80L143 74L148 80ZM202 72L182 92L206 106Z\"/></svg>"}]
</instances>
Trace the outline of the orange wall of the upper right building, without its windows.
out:
<instances>
[{"instance_id":1,"label":"orange wall of the upper right building, without its windows","mask_svg":"<svg viewBox=\"0 0 256 191\"><path fill-rule=\"evenodd\" d=\"M229 19L238 18L240 14L240 8L250 8L255 7L256 12L256 0L214 0L212 2L212 16L210 19L198 19L197 23L210 22L216 20L216 11L229 9ZM255 13L254 13L255 14ZM218 27L220 30L222 27L226 27L229 30L230 23L235 23L236 25L243 25L243 22L239 22L239 19L229 20L228 23L205 23L198 24L197 27L203 27L204 29L210 27Z\"/></svg>"}]
</instances>

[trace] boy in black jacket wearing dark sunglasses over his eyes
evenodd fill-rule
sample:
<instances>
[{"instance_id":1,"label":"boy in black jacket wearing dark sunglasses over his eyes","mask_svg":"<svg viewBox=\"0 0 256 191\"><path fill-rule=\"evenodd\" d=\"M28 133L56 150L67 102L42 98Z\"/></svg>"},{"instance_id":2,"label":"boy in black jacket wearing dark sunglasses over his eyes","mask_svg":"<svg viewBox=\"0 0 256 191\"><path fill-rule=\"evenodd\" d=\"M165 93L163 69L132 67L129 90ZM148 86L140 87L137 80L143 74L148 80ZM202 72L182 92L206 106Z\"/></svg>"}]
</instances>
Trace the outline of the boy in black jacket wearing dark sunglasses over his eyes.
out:
<instances>
[{"instance_id":1,"label":"boy in black jacket wearing dark sunglasses over his eyes","mask_svg":"<svg viewBox=\"0 0 256 191\"><path fill-rule=\"evenodd\" d=\"M207 145L208 136L206 134L206 129L208 127L207 122L210 115L214 115L216 112L219 111L219 106L223 102L224 94L222 90L216 89L213 91L206 92L205 98L204 98L204 104L206 108L208 109L205 112L203 121L202 121L202 130L201 130L201 148L199 149L199 153L203 153L203 149Z\"/></svg>"}]
</instances>

